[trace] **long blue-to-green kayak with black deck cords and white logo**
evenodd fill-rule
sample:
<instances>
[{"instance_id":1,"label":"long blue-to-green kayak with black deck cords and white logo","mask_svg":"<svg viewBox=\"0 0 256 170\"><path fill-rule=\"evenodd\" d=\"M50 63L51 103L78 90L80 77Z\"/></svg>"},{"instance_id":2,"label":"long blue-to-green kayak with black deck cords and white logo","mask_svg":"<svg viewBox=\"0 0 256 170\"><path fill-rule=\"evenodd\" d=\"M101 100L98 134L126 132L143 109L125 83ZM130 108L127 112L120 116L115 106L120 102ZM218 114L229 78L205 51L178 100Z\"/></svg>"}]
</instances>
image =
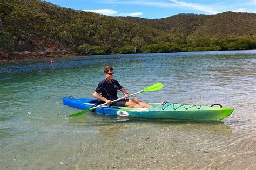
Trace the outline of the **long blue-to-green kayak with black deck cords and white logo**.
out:
<instances>
[{"instance_id":1,"label":"long blue-to-green kayak with black deck cords and white logo","mask_svg":"<svg viewBox=\"0 0 256 170\"><path fill-rule=\"evenodd\" d=\"M86 110L96 107L100 102L97 99L63 97L63 104L69 107ZM220 121L230 116L234 109L223 108L220 104L213 104L210 107L202 105L187 105L177 103L149 103L156 108L131 108L103 105L91 110L96 114L126 116L138 118L156 118L156 119L179 119L195 121Z\"/></svg>"}]
</instances>

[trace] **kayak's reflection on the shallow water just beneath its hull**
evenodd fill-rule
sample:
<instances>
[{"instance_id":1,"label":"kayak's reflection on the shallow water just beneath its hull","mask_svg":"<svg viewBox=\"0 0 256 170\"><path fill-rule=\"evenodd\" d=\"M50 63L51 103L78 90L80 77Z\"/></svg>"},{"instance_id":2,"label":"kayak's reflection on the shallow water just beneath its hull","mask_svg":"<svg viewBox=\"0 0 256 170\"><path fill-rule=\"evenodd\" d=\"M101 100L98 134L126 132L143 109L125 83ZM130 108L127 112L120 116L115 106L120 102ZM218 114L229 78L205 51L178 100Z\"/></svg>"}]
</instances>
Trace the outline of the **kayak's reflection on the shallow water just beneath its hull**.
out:
<instances>
[{"instance_id":1,"label":"kayak's reflection on the shallow water just beneath its hull","mask_svg":"<svg viewBox=\"0 0 256 170\"><path fill-rule=\"evenodd\" d=\"M86 114L85 116L73 117L69 119L70 123L80 123L84 126L99 126L100 128L104 126L102 132L109 134L118 134L122 131L122 128L117 128L120 126L133 126L137 124L143 124L144 126L157 125L158 128L169 128L169 129L178 129L179 131L187 130L198 130L204 133L212 134L232 134L232 129L224 124L221 121L174 121L170 119L146 119L146 118L131 118L125 116L109 116L109 115L100 115L100 114ZM115 128L110 131L107 127ZM105 132L106 131L106 132ZM108 134L108 133L107 133Z\"/></svg>"}]
</instances>

